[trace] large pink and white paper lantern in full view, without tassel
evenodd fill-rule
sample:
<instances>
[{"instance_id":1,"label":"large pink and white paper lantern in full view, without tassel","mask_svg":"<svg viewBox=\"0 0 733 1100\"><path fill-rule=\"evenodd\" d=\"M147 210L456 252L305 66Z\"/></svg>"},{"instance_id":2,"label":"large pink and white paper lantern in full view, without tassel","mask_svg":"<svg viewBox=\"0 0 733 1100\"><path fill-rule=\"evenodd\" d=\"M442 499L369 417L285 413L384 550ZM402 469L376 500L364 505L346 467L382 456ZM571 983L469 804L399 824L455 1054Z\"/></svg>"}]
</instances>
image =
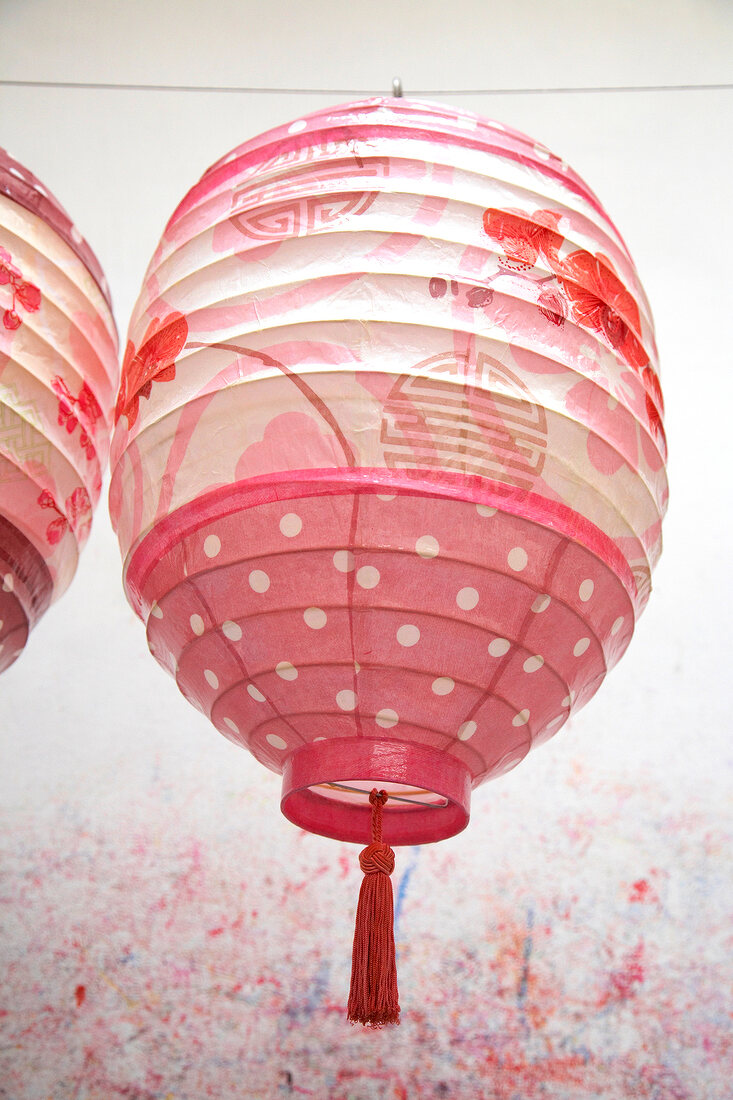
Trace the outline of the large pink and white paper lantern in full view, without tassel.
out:
<instances>
[{"instance_id":1,"label":"large pink and white paper lantern in full view, without tassel","mask_svg":"<svg viewBox=\"0 0 733 1100\"><path fill-rule=\"evenodd\" d=\"M321 111L214 165L153 257L129 598L293 822L365 839L379 785L386 840L450 836L630 642L661 413L636 272L564 162L429 103Z\"/></svg>"}]
</instances>

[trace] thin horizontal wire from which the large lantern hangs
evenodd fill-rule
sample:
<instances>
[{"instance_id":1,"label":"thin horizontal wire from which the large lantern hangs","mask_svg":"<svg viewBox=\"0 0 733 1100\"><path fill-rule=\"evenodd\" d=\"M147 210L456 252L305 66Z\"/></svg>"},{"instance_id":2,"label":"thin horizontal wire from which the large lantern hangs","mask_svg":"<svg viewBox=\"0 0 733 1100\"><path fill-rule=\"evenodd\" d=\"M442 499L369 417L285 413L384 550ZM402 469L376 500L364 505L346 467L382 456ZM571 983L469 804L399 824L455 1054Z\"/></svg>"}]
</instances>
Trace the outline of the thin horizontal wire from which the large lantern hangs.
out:
<instances>
[{"instance_id":1,"label":"thin horizontal wire from which the large lantern hangs","mask_svg":"<svg viewBox=\"0 0 733 1100\"><path fill-rule=\"evenodd\" d=\"M237 85L124 84L97 80L0 80L3 88L58 88L83 91L204 91L249 96L379 96L376 88L262 88ZM624 84L557 88L415 88L424 96L590 96L617 92L733 91L733 84ZM393 92L394 95L394 92Z\"/></svg>"}]
</instances>

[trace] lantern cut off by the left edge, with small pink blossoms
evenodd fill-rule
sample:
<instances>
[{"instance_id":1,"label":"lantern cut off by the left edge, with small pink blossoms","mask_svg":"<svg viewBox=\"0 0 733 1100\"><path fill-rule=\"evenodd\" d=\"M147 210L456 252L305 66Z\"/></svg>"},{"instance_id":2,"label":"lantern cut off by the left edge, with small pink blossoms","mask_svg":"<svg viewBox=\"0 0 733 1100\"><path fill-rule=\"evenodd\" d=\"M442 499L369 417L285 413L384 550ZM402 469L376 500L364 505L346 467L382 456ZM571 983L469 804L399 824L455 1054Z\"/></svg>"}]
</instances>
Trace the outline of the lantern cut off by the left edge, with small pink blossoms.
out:
<instances>
[{"instance_id":1,"label":"lantern cut off by the left edge, with small pink blossoms","mask_svg":"<svg viewBox=\"0 0 733 1100\"><path fill-rule=\"evenodd\" d=\"M0 150L0 671L74 576L118 377L96 256L57 200Z\"/></svg>"}]
</instances>

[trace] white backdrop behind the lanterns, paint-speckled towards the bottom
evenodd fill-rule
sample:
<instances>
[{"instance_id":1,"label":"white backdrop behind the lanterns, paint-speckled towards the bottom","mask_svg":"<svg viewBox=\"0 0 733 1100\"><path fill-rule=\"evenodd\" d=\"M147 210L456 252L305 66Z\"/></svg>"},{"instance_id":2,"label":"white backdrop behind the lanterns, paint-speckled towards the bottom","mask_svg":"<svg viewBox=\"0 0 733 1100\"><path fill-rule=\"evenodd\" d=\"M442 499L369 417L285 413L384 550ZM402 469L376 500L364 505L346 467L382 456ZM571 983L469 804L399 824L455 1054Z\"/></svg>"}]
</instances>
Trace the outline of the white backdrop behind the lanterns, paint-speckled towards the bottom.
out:
<instances>
[{"instance_id":1,"label":"white backdrop behind the lanterns, paint-speckled towards the bottom","mask_svg":"<svg viewBox=\"0 0 733 1100\"><path fill-rule=\"evenodd\" d=\"M197 1100L289 1089L353 1100L722 1100L733 1071L725 1069L730 1047L715 1038L733 977L724 931L732 898L723 862L733 743L733 90L452 92L730 82L733 4L4 0L0 30L6 81L337 89L329 96L0 86L0 144L59 197L97 252L122 342L174 206L209 163L258 132L355 98L350 89L387 94L400 75L407 95L450 90L431 98L499 118L545 142L600 195L652 301L671 486L656 591L624 661L554 741L477 792L466 834L420 854L419 861L411 857L414 873L409 890L405 880L398 933L407 979L403 1009L413 1021L425 1001L423 983L436 976L433 953L452 957L457 944L468 943L494 972L503 934L497 890L534 899L540 922L550 893L575 898L576 919L564 925L564 938L558 933L554 946L548 941L535 948L538 968L554 976L559 990L551 1026L546 1012L541 1025L533 1019L528 1031L519 1027L514 1069L500 1058L491 1063L491 1075L486 1059L501 1049L497 1035L506 1022L492 1023L501 996L480 974L461 977L449 968L438 975L446 1003L430 1000L435 1033L422 1025L415 1031L406 1020L398 1038L363 1036L338 1016L331 1022L346 997L358 888L355 871L337 870L344 855L349 867L355 864L354 850L303 838L281 820L277 779L220 738L166 681L124 602L101 509L73 587L0 681L0 966L12 994L9 1015L0 1015L0 1097ZM568 832L570 818L575 833ZM138 857L135 838L145 853ZM158 935L151 931L155 891L177 889L188 873L185 854L196 844L208 877L186 902L185 925ZM325 894L310 886L300 900L277 892L278 881L294 881L297 870L307 882L321 865L333 868L335 884ZM227 890L238 875L271 911L232 934L215 965L200 930L210 910L231 916L227 906L239 902ZM643 919L634 910L630 932L619 884L642 878L656 883L659 905ZM453 911L449 899L461 890L463 903ZM319 927L304 912L316 914ZM311 938L299 974L287 952L305 926ZM174 932L189 967L183 986L171 977L183 965L171 954ZM120 963L125 936L139 953L146 945L132 977ZM580 1076L568 1070L569 1077L554 1077L555 1070L543 1068L543 1050L570 1057L576 1049L568 1043L572 1020L590 1011L583 1001L589 969L600 965L603 950L613 955L617 948L619 958L627 958L624 950L639 936L657 952L649 956L656 985L647 970L636 996L644 982L654 990L644 1012L656 1020L658 1035L652 1023L652 1032L644 1031L633 1005L622 1005L619 1012L626 1015L595 1021L583 1040L590 1054L581 1058ZM308 1000L314 958L322 956L333 967L327 992ZM209 971L226 959L244 994L255 975L280 974L282 996L266 1003L240 993L225 1000L210 974L204 980L207 959ZM609 972L616 972L614 965L611 959ZM74 1001L78 985L87 990L80 1009ZM196 1027L188 1032L190 1024L182 1021L177 1038L167 1032L162 1037L163 1002L184 1018L195 1002ZM150 1041L132 1042L124 1032L129 1024L133 1034L135 1013ZM678 1026L669 1024L670 1013L678 1014ZM692 1031L688 1035L686 1013L696 1020L699 1042ZM436 1037L449 1024L460 1034L460 1020L450 1023L456 1014L474 1040L477 1020L489 1021L460 1064L451 1045ZM708 1048L705 1028L712 1036ZM194 1056L201 1035L206 1049ZM364 1059L380 1067L376 1085ZM527 1066L535 1067L534 1077L526 1076ZM441 1085L449 1091L440 1092Z\"/></svg>"}]
</instances>

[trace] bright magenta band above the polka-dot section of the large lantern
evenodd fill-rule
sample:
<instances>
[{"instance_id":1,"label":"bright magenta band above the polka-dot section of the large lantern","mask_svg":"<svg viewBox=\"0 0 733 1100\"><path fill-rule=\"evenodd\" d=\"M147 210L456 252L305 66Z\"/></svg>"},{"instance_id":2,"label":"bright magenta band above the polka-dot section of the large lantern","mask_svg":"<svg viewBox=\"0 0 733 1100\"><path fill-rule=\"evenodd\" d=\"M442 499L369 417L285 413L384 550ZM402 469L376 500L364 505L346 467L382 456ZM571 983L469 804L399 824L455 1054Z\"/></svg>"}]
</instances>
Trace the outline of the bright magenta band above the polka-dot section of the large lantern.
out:
<instances>
[{"instance_id":1,"label":"bright magenta band above the polka-dot section of the large lantern","mask_svg":"<svg viewBox=\"0 0 733 1100\"><path fill-rule=\"evenodd\" d=\"M478 475L451 471L440 471L436 475L434 471L422 470L416 470L413 474L405 470L385 468L292 470L263 474L211 490L161 519L130 552L124 569L128 598L138 615L141 615L142 593L150 572L172 547L214 519L271 504L273 501L343 493L380 493L384 490L481 504L551 528L594 553L616 574L632 603L636 601L636 583L619 547L594 524L567 505Z\"/></svg>"}]
</instances>

